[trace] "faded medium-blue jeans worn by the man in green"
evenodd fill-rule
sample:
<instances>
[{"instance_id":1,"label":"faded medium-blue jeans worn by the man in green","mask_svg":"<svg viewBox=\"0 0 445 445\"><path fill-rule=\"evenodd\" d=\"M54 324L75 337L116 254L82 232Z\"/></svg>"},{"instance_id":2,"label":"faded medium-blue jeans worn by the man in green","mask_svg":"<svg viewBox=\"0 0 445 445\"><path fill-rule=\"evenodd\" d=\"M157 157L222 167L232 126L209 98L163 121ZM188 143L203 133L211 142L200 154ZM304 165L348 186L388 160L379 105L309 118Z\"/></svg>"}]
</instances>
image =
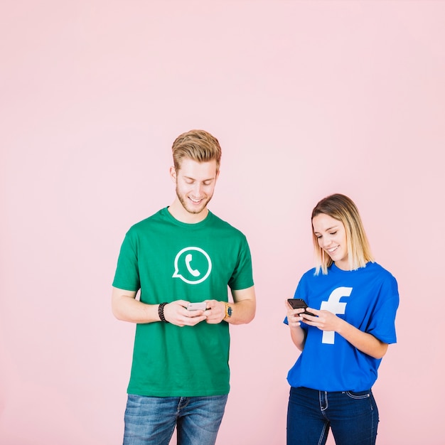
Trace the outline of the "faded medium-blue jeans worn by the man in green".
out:
<instances>
[{"instance_id":1,"label":"faded medium-blue jeans worn by the man in green","mask_svg":"<svg viewBox=\"0 0 445 445\"><path fill-rule=\"evenodd\" d=\"M146 397L128 395L124 445L168 445L176 427L178 445L213 445L227 395Z\"/></svg>"}]
</instances>

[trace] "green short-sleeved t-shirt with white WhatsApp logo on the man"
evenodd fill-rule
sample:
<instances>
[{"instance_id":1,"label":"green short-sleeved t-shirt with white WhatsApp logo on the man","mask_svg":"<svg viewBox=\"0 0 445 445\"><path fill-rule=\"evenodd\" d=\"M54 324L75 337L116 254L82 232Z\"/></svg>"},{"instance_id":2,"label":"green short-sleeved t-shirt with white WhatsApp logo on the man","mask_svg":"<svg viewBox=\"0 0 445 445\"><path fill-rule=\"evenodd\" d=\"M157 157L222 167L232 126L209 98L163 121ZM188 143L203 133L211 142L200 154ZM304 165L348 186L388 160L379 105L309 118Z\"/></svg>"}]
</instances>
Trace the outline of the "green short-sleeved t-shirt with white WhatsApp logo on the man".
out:
<instances>
[{"instance_id":1,"label":"green short-sleeved t-shirt with white WhatsApp logo on the man","mask_svg":"<svg viewBox=\"0 0 445 445\"><path fill-rule=\"evenodd\" d=\"M141 289L146 304L228 301L227 285L232 290L253 286L245 235L213 213L186 224L167 208L127 232L113 281L119 289ZM182 328L137 324L128 392L154 397L227 394L229 343L225 321Z\"/></svg>"}]
</instances>

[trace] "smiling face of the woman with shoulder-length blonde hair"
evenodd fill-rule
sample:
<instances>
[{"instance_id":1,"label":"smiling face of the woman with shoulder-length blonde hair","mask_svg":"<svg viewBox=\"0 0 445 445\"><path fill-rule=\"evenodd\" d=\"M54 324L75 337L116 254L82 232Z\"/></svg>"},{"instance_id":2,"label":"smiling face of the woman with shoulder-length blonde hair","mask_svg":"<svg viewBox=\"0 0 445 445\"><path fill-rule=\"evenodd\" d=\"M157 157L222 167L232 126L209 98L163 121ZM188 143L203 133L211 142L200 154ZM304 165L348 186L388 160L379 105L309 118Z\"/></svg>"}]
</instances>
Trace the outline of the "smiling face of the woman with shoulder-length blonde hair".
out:
<instances>
[{"instance_id":1,"label":"smiling face of the woman with shoulder-length blonde hair","mask_svg":"<svg viewBox=\"0 0 445 445\"><path fill-rule=\"evenodd\" d=\"M325 213L319 213L312 218L312 227L318 245L331 257L338 269L350 270L343 223Z\"/></svg>"}]
</instances>

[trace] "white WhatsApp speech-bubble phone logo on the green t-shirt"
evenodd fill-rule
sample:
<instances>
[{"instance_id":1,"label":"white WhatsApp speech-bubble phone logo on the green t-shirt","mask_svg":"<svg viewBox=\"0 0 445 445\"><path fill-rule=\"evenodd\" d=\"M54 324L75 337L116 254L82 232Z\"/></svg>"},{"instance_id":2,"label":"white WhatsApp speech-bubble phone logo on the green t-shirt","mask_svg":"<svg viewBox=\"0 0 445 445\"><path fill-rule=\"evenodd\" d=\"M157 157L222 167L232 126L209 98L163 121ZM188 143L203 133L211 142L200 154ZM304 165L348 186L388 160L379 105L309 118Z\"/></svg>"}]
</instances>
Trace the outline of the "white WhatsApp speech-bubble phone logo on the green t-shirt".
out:
<instances>
[{"instance_id":1,"label":"white WhatsApp speech-bubble phone logo on the green t-shirt","mask_svg":"<svg viewBox=\"0 0 445 445\"><path fill-rule=\"evenodd\" d=\"M176 254L173 278L181 278L188 284L199 284L211 271L212 261L200 247L186 247Z\"/></svg>"}]
</instances>

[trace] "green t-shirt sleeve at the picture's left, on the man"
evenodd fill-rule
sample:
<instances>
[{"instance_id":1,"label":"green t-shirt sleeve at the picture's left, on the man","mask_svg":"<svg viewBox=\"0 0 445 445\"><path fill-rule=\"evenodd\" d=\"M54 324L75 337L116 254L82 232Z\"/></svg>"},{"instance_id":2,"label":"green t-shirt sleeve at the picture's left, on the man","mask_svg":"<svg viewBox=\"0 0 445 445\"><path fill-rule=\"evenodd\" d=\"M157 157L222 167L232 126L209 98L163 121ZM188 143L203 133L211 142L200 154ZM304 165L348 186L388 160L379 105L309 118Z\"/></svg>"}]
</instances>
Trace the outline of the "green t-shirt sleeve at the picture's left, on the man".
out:
<instances>
[{"instance_id":1,"label":"green t-shirt sleeve at the picture's left, on the man","mask_svg":"<svg viewBox=\"0 0 445 445\"><path fill-rule=\"evenodd\" d=\"M113 286L127 291L138 291L141 286L139 280L137 242L131 232L127 232L124 242L122 242L119 258L117 259Z\"/></svg>"}]
</instances>

